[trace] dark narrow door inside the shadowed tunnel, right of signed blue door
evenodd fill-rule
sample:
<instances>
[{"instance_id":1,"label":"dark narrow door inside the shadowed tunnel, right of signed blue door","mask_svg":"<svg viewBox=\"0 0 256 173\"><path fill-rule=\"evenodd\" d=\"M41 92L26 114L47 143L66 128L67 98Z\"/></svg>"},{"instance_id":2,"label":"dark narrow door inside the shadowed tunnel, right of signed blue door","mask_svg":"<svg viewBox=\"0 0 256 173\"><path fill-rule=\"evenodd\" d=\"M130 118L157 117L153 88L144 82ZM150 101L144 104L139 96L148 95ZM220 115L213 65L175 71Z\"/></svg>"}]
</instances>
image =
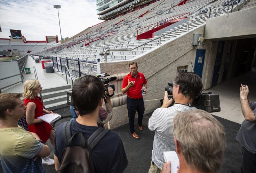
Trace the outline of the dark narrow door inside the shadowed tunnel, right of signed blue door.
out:
<instances>
[{"instance_id":1,"label":"dark narrow door inside the shadowed tunnel, right of signed blue door","mask_svg":"<svg viewBox=\"0 0 256 173\"><path fill-rule=\"evenodd\" d=\"M225 44L224 41L219 41L215 65L214 65L214 71L213 71L213 79L211 81L211 87L218 84L219 69L221 69L221 61L222 61L222 55L224 51L224 44Z\"/></svg>"}]
</instances>

